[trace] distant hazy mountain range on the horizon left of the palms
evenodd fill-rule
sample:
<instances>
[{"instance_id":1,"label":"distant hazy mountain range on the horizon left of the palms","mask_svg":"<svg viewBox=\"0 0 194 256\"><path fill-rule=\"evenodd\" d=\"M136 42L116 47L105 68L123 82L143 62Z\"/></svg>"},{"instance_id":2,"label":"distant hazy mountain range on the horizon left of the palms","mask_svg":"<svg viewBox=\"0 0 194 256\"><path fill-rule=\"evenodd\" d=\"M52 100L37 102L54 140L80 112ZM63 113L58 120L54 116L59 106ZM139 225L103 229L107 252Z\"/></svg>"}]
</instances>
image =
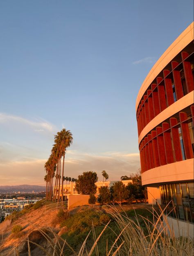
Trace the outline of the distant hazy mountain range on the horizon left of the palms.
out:
<instances>
[{"instance_id":1,"label":"distant hazy mountain range on the horizon left of the palms","mask_svg":"<svg viewBox=\"0 0 194 256\"><path fill-rule=\"evenodd\" d=\"M46 191L45 186L37 186L37 185L16 185L16 186L0 186L0 192L40 192Z\"/></svg>"}]
</instances>

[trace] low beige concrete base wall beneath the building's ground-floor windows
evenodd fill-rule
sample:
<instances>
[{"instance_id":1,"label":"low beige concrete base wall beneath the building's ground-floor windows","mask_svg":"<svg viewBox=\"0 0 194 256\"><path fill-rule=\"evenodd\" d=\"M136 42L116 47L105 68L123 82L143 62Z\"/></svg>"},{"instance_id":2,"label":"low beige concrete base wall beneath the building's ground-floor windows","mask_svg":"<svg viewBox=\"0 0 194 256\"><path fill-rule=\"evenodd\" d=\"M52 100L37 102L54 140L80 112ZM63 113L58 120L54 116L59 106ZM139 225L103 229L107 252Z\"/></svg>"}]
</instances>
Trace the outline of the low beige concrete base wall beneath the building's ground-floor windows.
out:
<instances>
[{"instance_id":1,"label":"low beige concrete base wall beneath the building's ground-floor windows","mask_svg":"<svg viewBox=\"0 0 194 256\"><path fill-rule=\"evenodd\" d=\"M167 217L171 230L174 230L176 237L186 236L194 238L194 224Z\"/></svg>"}]
</instances>

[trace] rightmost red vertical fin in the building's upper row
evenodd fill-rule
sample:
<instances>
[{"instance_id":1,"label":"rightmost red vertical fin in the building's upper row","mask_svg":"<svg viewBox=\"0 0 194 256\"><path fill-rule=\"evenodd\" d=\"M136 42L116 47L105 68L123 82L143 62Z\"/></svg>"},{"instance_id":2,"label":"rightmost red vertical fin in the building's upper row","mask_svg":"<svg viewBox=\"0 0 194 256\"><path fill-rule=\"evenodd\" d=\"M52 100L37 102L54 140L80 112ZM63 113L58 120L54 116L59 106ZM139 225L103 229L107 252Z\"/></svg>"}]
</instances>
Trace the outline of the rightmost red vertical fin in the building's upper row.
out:
<instances>
[{"instance_id":1,"label":"rightmost red vertical fin in the building's upper row","mask_svg":"<svg viewBox=\"0 0 194 256\"><path fill-rule=\"evenodd\" d=\"M192 74L192 69L191 69L191 63L188 61L185 61L189 56L189 53L182 52L181 53L182 60L183 60L183 69L185 73L185 80L186 80L186 85L187 85L187 91L188 93L193 91L194 89L194 82L193 82L193 74Z\"/></svg>"}]
</instances>

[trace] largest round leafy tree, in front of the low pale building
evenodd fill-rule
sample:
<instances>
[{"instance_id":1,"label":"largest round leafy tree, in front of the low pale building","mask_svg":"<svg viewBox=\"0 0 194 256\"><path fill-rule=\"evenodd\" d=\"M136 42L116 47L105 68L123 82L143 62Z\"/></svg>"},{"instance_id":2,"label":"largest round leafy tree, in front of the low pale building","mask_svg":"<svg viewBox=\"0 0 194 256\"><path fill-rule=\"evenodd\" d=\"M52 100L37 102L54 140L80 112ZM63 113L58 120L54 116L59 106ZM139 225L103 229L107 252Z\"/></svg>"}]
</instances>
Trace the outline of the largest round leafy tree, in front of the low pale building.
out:
<instances>
[{"instance_id":1,"label":"largest round leafy tree, in front of the low pale building","mask_svg":"<svg viewBox=\"0 0 194 256\"><path fill-rule=\"evenodd\" d=\"M96 172L86 171L82 175L78 176L75 182L75 189L78 194L95 194L97 186L95 183L98 181Z\"/></svg>"}]
</instances>

